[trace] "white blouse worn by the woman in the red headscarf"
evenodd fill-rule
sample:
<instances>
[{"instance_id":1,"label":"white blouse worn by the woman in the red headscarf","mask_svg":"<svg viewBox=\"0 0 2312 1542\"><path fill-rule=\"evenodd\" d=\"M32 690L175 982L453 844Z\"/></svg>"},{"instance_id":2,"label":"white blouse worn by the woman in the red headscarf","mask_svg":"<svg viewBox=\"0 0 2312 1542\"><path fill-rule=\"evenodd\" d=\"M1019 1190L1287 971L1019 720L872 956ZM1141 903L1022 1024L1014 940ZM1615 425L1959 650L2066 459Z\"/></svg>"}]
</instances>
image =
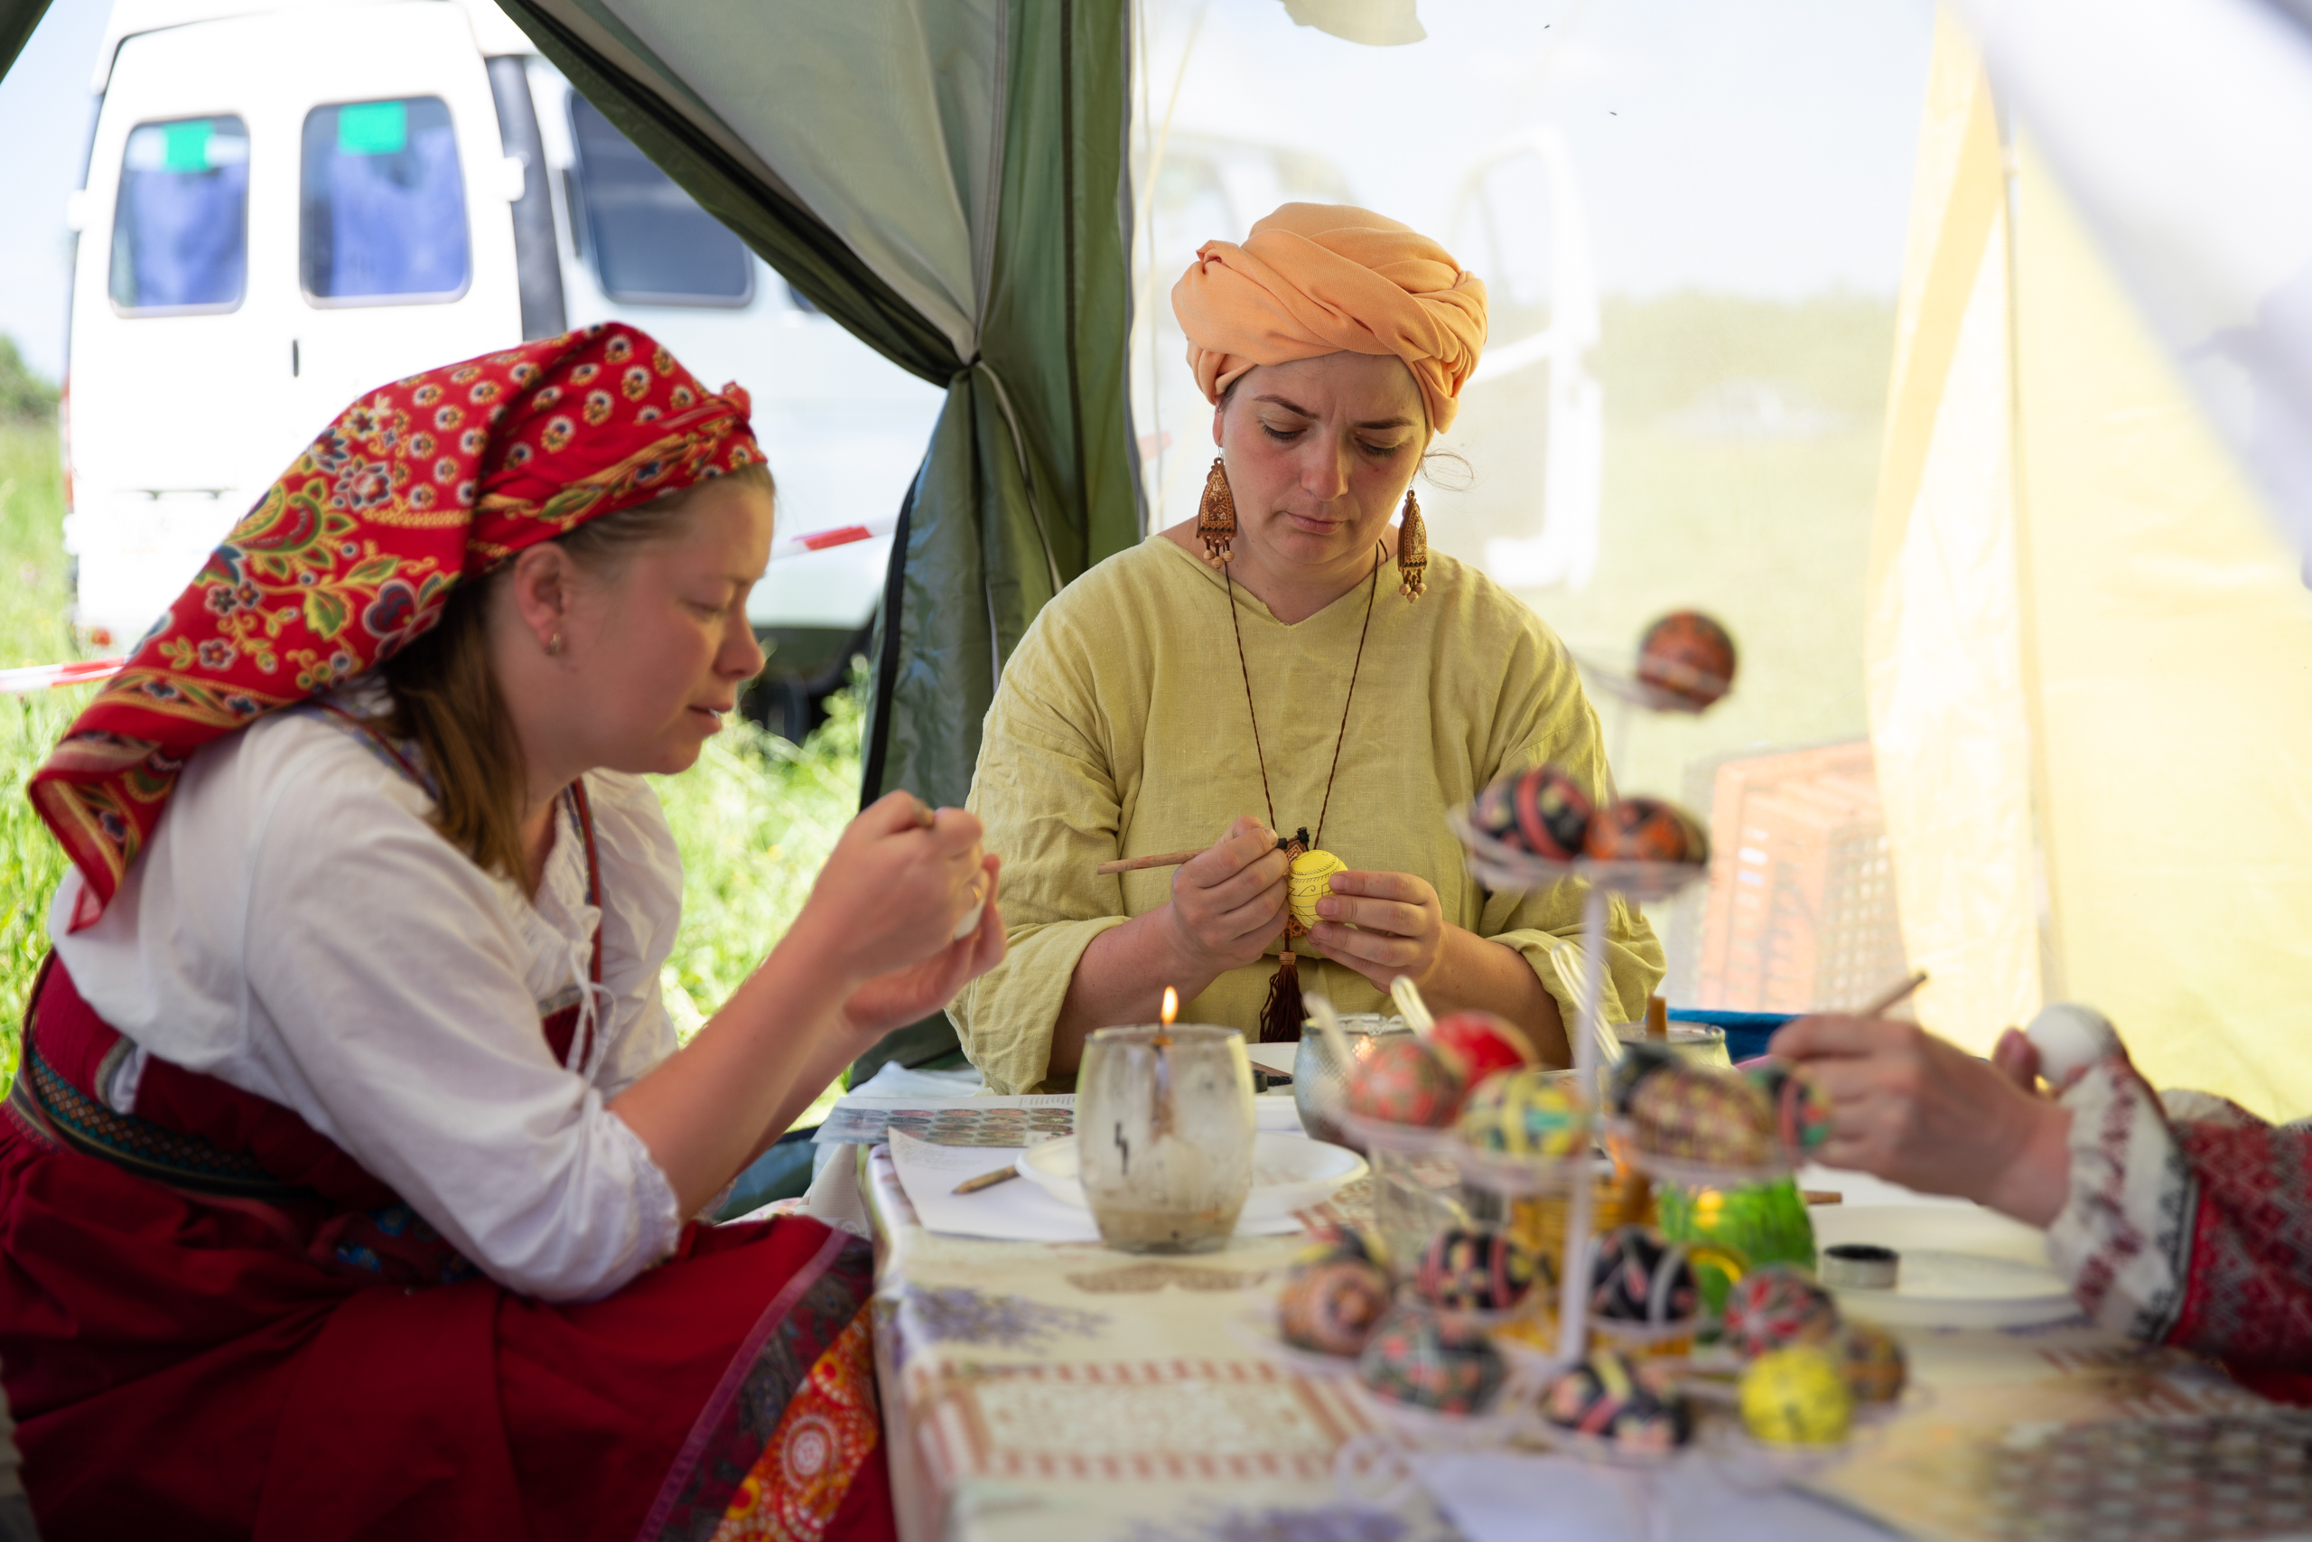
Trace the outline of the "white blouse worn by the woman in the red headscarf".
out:
<instances>
[{"instance_id":1,"label":"white blouse worn by the woman in the red headscarf","mask_svg":"<svg viewBox=\"0 0 2312 1542\"><path fill-rule=\"evenodd\" d=\"M203 1070L296 1110L511 1290L617 1290L682 1228L666 1174L603 1107L675 1052L659 966L682 858L640 777L587 772L585 788L601 911L566 802L532 902L444 842L425 788L335 719L275 712L203 747L104 915L67 929L76 872L49 911L81 996L136 1045L97 1096L134 1112L146 1054ZM599 1024L585 1066L539 1031L571 1001ZM585 1043L580 1022L573 1059Z\"/></svg>"}]
</instances>

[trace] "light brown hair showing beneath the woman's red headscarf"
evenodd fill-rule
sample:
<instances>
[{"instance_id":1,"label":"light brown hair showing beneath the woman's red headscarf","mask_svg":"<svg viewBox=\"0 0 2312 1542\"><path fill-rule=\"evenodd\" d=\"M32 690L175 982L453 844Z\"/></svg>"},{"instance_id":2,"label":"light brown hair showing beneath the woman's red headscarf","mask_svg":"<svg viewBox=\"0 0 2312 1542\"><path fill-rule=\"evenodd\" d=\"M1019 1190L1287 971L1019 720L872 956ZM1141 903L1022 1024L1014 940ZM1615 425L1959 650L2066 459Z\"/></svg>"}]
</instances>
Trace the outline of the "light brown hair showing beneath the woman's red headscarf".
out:
<instances>
[{"instance_id":1,"label":"light brown hair showing beneath the woman's red headscarf","mask_svg":"<svg viewBox=\"0 0 2312 1542\"><path fill-rule=\"evenodd\" d=\"M633 509L587 520L557 546L590 576L615 580L643 548L670 541L684 506L701 488L740 481L775 492L770 467L754 462L717 481L694 483ZM513 737L506 696L490 670L490 596L511 562L451 590L442 620L416 643L393 654L379 675L393 707L379 726L412 740L435 781L432 828L451 846L525 890L529 862L523 853L523 793L529 779L523 747Z\"/></svg>"}]
</instances>

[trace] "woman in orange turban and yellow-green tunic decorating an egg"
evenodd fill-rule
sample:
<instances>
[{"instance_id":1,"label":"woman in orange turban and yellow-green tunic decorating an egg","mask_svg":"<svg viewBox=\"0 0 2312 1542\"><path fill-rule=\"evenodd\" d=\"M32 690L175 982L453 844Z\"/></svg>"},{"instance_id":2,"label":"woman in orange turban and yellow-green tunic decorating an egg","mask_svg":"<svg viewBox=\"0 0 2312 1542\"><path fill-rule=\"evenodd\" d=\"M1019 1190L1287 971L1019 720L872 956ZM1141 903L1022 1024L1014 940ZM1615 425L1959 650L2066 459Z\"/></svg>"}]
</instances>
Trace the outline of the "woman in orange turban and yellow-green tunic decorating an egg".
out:
<instances>
[{"instance_id":1,"label":"woman in orange turban and yellow-green tunic decorating an egg","mask_svg":"<svg viewBox=\"0 0 2312 1542\"><path fill-rule=\"evenodd\" d=\"M1408 976L1565 1063L1579 902L1487 892L1445 828L1535 761L1607 791L1565 647L1431 553L1413 495L1484 347L1484 284L1394 220L1285 203L1207 243L1172 312L1221 453L1193 522L1068 585L1003 668L971 809L1006 853L1010 955L948 1008L966 1052L1031 1091L1168 985L1195 1022L1267 1015L1276 1038L1299 1033L1272 1006L1292 983L1387 1010ZM1346 862L1304 936L1292 842ZM1607 1010L1635 1017L1662 952L1618 902L1607 955Z\"/></svg>"}]
</instances>

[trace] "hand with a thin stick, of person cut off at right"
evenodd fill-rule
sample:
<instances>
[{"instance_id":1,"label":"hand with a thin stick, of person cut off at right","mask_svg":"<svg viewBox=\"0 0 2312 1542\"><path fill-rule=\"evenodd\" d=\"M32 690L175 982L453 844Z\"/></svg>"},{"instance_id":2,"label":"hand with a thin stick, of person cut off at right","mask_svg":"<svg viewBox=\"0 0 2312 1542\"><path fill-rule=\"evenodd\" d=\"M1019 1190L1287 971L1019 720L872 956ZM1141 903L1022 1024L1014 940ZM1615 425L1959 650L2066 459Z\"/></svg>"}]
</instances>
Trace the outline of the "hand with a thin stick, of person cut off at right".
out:
<instances>
[{"instance_id":1,"label":"hand with a thin stick, of person cut off at right","mask_svg":"<svg viewBox=\"0 0 2312 1542\"><path fill-rule=\"evenodd\" d=\"M1831 1103L1820 1161L2048 1225L2072 1188L2072 1114L2023 1091L2018 1054L1981 1061L1912 1022L1801 1017L1769 1054Z\"/></svg>"}]
</instances>

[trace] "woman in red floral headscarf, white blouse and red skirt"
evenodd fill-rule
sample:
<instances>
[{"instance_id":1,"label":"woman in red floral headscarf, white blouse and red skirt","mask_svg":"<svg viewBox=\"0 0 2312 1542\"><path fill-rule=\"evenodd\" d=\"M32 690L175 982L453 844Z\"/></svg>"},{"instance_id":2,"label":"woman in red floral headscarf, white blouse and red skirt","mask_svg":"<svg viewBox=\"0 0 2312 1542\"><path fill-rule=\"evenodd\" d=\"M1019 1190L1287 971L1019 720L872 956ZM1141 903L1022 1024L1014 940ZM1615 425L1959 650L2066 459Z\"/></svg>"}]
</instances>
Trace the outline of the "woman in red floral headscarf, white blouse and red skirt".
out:
<instances>
[{"instance_id":1,"label":"woman in red floral headscarf, white blouse and red skirt","mask_svg":"<svg viewBox=\"0 0 2312 1542\"><path fill-rule=\"evenodd\" d=\"M418 375L58 744L0 1128L46 1535L890 1535L867 1246L687 1218L1001 957L994 858L881 800L675 1052L638 772L761 668L770 532L744 393L631 328Z\"/></svg>"}]
</instances>

